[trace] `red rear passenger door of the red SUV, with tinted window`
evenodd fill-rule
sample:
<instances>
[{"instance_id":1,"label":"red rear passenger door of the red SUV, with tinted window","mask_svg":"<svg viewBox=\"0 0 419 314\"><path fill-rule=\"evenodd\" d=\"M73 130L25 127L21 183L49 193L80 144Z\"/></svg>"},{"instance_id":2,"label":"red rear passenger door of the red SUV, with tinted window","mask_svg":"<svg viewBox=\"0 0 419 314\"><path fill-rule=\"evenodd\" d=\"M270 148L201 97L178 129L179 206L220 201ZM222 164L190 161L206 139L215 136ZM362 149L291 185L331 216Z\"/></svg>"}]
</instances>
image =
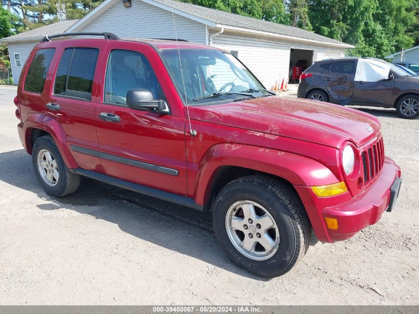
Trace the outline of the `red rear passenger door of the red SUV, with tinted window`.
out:
<instances>
[{"instance_id":1,"label":"red rear passenger door of the red SUV, with tinted window","mask_svg":"<svg viewBox=\"0 0 419 314\"><path fill-rule=\"evenodd\" d=\"M97 64L107 41L84 41L60 50L51 92L45 100L47 116L57 120L67 135L67 145L80 168L103 172L97 152L95 126ZM96 153L97 155L97 153Z\"/></svg>"}]
</instances>

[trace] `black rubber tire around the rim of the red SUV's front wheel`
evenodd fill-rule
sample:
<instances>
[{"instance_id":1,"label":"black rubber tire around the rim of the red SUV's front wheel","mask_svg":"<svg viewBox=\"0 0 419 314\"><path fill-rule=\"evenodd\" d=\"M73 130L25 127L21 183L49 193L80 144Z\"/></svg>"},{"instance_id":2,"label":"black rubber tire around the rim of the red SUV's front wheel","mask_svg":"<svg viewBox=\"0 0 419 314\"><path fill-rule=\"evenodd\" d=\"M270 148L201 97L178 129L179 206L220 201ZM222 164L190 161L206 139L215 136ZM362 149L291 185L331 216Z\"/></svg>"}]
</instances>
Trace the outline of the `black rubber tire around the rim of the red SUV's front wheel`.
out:
<instances>
[{"instance_id":1,"label":"black rubber tire around the rim of the red SUV's front wheel","mask_svg":"<svg viewBox=\"0 0 419 314\"><path fill-rule=\"evenodd\" d=\"M229 238L226 216L229 208L242 200L262 205L278 226L278 249L268 259L255 260L243 255ZM307 214L296 191L279 180L256 175L234 180L218 193L212 211L214 231L221 248L234 263L253 274L270 278L281 276L308 250L311 225Z\"/></svg>"}]
</instances>

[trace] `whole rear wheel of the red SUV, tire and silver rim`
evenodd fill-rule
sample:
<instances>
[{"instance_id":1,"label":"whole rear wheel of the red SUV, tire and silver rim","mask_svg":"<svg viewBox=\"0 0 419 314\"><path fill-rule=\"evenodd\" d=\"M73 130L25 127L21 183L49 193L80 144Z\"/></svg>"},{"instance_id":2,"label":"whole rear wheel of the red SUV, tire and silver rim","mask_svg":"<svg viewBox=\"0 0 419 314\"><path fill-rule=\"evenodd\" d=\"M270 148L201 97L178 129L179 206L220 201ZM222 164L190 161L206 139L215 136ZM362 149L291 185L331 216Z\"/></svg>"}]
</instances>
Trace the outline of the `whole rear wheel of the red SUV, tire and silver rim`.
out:
<instances>
[{"instance_id":1,"label":"whole rear wheel of the red SUV, tire and silver rim","mask_svg":"<svg viewBox=\"0 0 419 314\"><path fill-rule=\"evenodd\" d=\"M38 181L51 195L70 194L80 185L80 176L68 170L57 145L49 135L35 141L32 150L32 165Z\"/></svg>"}]
</instances>

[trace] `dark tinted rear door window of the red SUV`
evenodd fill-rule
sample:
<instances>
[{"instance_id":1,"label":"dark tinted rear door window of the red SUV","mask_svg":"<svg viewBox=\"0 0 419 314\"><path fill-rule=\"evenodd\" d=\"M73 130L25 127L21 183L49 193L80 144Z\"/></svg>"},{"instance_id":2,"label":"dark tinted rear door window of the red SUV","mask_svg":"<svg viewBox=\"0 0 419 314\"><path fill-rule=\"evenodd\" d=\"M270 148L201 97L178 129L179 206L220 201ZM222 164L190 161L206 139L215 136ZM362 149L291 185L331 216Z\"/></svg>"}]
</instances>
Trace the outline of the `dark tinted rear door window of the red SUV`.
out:
<instances>
[{"instance_id":1,"label":"dark tinted rear door window of the red SUV","mask_svg":"<svg viewBox=\"0 0 419 314\"><path fill-rule=\"evenodd\" d=\"M66 49L57 70L54 94L91 100L98 55L95 48Z\"/></svg>"}]
</instances>

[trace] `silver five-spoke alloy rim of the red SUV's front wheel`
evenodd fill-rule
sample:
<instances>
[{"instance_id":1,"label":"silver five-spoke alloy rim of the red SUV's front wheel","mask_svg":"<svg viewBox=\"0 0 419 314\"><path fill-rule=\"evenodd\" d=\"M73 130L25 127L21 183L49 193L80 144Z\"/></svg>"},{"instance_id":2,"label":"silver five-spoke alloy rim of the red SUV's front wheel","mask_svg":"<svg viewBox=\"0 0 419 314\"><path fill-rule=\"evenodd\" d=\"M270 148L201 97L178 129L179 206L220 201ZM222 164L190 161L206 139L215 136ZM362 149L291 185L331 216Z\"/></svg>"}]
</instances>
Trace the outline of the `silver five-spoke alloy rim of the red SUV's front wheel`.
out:
<instances>
[{"instance_id":1,"label":"silver five-spoke alloy rim of the red SUV's front wheel","mask_svg":"<svg viewBox=\"0 0 419 314\"><path fill-rule=\"evenodd\" d=\"M226 215L226 230L234 247L247 258L265 260L278 251L278 226L258 203L240 200L231 205Z\"/></svg>"}]
</instances>

